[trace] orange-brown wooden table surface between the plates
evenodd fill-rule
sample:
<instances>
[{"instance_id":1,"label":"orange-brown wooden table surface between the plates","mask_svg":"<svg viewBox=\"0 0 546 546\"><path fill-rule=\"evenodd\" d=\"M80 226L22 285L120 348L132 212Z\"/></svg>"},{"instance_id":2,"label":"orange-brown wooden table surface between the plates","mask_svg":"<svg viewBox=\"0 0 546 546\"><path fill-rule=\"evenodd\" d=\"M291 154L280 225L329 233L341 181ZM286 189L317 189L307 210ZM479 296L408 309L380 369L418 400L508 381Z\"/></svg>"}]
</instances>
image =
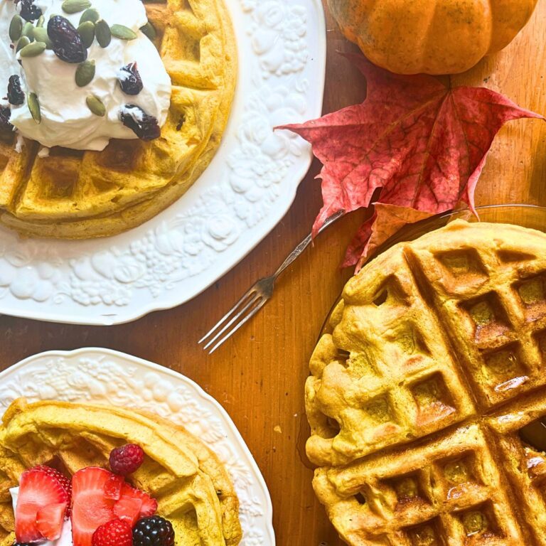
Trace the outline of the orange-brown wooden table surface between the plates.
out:
<instances>
[{"instance_id":1,"label":"orange-brown wooden table surface between the plates","mask_svg":"<svg viewBox=\"0 0 546 546\"><path fill-rule=\"evenodd\" d=\"M487 85L522 107L546 113L546 0L503 52L482 61L455 84ZM324 111L365 96L365 85L336 50L354 50L328 17L328 72ZM274 507L278 545L341 545L311 489L304 456L308 360L321 325L350 277L338 264L363 218L354 213L321 235L293 264L272 301L212 356L200 336L259 277L272 272L309 232L321 206L315 162L286 217L232 272L193 301L137 322L109 328L64 326L0 317L0 368L51 349L102 346L146 358L196 380L228 410L261 469ZM498 135L478 183L476 201L546 205L546 123L512 122Z\"/></svg>"}]
</instances>

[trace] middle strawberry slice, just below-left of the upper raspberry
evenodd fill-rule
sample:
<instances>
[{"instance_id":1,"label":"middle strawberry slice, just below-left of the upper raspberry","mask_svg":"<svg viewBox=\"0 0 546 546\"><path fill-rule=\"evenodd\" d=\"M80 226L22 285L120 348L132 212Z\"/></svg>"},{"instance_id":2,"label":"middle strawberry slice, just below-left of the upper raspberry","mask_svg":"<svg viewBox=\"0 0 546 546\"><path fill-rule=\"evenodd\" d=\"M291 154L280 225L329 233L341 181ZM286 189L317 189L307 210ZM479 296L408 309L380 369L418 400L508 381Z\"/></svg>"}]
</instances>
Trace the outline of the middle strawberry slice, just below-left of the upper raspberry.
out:
<instances>
[{"instance_id":1,"label":"middle strawberry slice, just below-left of the upper raspberry","mask_svg":"<svg viewBox=\"0 0 546 546\"><path fill-rule=\"evenodd\" d=\"M105 485L112 473L89 466L72 477L72 540L74 546L91 546L93 533L116 518L114 501L105 497Z\"/></svg>"}]
</instances>

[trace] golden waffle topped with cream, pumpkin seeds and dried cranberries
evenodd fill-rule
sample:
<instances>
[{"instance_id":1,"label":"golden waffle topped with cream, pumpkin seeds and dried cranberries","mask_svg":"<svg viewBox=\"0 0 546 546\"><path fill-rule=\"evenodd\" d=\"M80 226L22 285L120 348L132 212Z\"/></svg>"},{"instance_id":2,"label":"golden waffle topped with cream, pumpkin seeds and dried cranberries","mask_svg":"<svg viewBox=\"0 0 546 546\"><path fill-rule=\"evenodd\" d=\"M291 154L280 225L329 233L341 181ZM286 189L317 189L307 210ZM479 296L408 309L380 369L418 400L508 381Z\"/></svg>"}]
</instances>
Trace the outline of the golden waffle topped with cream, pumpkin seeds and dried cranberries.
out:
<instances>
[{"instance_id":1,"label":"golden waffle topped with cream, pumpkin seeds and dried cranberries","mask_svg":"<svg viewBox=\"0 0 546 546\"><path fill-rule=\"evenodd\" d=\"M161 137L112 140L104 151L18 154L0 139L0 223L23 235L115 235L180 198L213 159L235 92L235 36L223 0L146 3L173 84Z\"/></svg>"}]
</instances>

